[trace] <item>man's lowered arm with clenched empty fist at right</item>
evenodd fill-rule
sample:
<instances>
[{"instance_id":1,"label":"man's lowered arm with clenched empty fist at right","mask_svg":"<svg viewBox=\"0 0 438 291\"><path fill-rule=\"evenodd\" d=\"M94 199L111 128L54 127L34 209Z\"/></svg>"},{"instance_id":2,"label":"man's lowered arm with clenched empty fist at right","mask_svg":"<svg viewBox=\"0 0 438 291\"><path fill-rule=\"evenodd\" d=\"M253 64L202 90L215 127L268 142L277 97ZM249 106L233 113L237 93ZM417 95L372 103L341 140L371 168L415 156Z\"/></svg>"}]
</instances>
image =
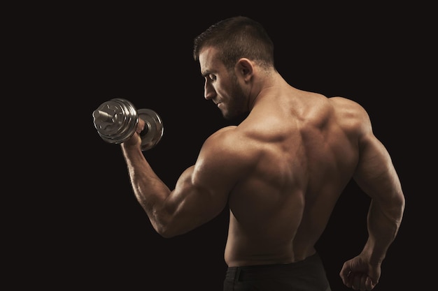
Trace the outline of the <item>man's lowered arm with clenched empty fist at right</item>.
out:
<instances>
[{"instance_id":1,"label":"man's lowered arm with clenched empty fist at right","mask_svg":"<svg viewBox=\"0 0 438 291\"><path fill-rule=\"evenodd\" d=\"M360 255L344 263L340 276L348 287L372 290L379 282L381 263L402 222L405 201L390 154L372 133L366 114L364 120L353 178L372 199L367 215L369 236Z\"/></svg>"}]
</instances>

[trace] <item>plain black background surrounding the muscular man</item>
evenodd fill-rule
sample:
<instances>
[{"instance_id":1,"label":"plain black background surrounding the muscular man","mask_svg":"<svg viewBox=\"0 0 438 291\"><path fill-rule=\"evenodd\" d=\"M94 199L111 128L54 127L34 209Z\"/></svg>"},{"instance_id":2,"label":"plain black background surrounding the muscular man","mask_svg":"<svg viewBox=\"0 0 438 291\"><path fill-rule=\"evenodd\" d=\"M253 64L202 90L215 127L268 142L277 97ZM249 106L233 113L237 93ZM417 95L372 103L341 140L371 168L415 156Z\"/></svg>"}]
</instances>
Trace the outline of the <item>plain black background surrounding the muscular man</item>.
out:
<instances>
[{"instance_id":1,"label":"plain black background surrounding the muscular man","mask_svg":"<svg viewBox=\"0 0 438 291\"><path fill-rule=\"evenodd\" d=\"M111 98L158 112L164 136L144 154L172 188L206 137L229 124L203 98L192 40L234 15L264 25L292 86L351 98L369 112L407 198L375 290L428 290L437 194L430 8L158 5L27 6L11 22L20 31L11 33L20 79L11 99L29 100L22 107L34 117L24 149L12 142L20 154L9 166L17 181L8 196L18 203L5 206L5 277L14 290L222 290L226 211L188 234L160 237L136 202L120 147L101 140L92 112ZM338 274L365 243L368 202L349 184L318 242L334 291L348 290Z\"/></svg>"}]
</instances>

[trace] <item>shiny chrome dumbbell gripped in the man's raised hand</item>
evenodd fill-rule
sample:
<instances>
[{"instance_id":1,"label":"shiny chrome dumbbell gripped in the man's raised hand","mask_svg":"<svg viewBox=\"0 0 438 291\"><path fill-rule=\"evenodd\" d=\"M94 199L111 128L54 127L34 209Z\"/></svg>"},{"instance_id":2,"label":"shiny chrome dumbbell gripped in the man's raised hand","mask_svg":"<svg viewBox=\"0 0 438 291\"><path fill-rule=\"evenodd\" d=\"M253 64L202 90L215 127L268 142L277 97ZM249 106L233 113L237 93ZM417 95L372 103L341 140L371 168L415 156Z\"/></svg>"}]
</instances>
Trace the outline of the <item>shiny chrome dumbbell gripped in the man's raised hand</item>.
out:
<instances>
[{"instance_id":1,"label":"shiny chrome dumbbell gripped in the man's raised hand","mask_svg":"<svg viewBox=\"0 0 438 291\"><path fill-rule=\"evenodd\" d=\"M141 150L152 149L160 142L164 133L160 116L154 110L136 107L126 99L114 98L102 103L93 112L94 127L102 140L121 144L136 132L139 118L145 121L141 131Z\"/></svg>"}]
</instances>

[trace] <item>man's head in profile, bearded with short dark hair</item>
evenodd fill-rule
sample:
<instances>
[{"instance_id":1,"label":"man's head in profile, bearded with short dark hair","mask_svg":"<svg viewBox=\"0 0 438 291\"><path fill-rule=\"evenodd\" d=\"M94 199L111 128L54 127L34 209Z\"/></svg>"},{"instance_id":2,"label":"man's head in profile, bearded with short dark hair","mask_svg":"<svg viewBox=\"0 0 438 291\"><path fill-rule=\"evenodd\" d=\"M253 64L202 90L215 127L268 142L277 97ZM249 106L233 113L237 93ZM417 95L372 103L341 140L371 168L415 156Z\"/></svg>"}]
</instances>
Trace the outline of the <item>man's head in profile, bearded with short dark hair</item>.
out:
<instances>
[{"instance_id":1,"label":"man's head in profile, bearded with short dark hair","mask_svg":"<svg viewBox=\"0 0 438 291\"><path fill-rule=\"evenodd\" d=\"M204 97L226 119L250 110L258 92L255 75L274 69L274 45L263 27L248 17L213 24L195 38L193 57L205 78Z\"/></svg>"}]
</instances>

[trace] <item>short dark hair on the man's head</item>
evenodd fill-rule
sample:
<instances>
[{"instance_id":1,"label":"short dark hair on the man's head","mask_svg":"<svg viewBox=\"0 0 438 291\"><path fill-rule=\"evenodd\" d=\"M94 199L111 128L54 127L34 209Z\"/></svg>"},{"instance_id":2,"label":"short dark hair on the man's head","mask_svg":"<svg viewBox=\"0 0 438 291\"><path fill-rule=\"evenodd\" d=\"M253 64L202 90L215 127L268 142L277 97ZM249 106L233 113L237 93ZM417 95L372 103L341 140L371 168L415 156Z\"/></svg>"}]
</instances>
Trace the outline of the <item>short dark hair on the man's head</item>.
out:
<instances>
[{"instance_id":1,"label":"short dark hair on the man's head","mask_svg":"<svg viewBox=\"0 0 438 291\"><path fill-rule=\"evenodd\" d=\"M199 60L199 51L212 46L227 68L241 58L256 61L260 66L274 66L274 43L267 31L255 20L245 16L229 17L211 25L194 40L193 58Z\"/></svg>"}]
</instances>

